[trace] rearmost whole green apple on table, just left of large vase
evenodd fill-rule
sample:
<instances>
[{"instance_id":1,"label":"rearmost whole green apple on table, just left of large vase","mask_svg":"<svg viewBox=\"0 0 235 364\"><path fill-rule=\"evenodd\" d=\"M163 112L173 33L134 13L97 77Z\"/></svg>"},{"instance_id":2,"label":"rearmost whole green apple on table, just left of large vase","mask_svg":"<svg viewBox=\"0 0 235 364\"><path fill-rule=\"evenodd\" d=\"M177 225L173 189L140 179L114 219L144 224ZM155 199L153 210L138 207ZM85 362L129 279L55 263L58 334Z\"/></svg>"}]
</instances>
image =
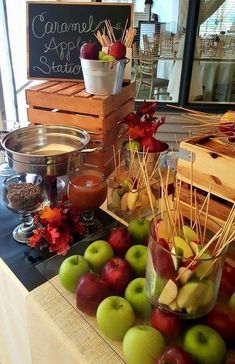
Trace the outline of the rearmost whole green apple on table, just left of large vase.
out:
<instances>
[{"instance_id":1,"label":"rearmost whole green apple on table, just left of large vase","mask_svg":"<svg viewBox=\"0 0 235 364\"><path fill-rule=\"evenodd\" d=\"M143 243L149 236L150 221L147 219L132 219L128 224L128 231L134 241L138 244Z\"/></svg>"}]
</instances>

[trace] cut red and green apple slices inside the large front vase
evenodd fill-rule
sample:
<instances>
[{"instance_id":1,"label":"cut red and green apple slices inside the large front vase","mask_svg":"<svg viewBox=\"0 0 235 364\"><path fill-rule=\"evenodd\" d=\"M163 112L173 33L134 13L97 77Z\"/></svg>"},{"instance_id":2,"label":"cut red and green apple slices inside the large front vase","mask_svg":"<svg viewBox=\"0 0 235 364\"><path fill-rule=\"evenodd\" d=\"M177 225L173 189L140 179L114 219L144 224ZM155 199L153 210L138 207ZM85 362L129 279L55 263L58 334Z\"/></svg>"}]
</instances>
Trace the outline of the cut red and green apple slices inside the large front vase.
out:
<instances>
[{"instance_id":1,"label":"cut red and green apple slices inside the large front vase","mask_svg":"<svg viewBox=\"0 0 235 364\"><path fill-rule=\"evenodd\" d=\"M170 236L166 221L157 221L154 231L157 243L151 242L146 273L148 292L151 300L165 309L198 317L215 304L218 265L211 265L212 256L208 250L197 260L203 244L191 227L183 225L182 230L183 237Z\"/></svg>"}]
</instances>

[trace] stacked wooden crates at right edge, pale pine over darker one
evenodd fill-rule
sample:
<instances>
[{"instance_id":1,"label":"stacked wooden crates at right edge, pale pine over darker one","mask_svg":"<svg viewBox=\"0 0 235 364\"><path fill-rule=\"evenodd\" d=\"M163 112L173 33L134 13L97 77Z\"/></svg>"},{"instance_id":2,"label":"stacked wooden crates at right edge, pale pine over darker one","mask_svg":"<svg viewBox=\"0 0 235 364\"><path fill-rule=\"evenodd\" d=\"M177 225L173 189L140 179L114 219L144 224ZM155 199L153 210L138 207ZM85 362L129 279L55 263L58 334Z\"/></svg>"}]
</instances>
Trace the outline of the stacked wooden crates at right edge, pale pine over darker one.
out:
<instances>
[{"instance_id":1,"label":"stacked wooden crates at right edge, pale pine over darker one","mask_svg":"<svg viewBox=\"0 0 235 364\"><path fill-rule=\"evenodd\" d=\"M211 136L193 137L180 143L177 180L182 180L180 200L190 205L191 184L197 191L198 208L211 186L208 215L220 224L235 202L235 149ZM229 251L235 264L235 244Z\"/></svg>"}]
</instances>

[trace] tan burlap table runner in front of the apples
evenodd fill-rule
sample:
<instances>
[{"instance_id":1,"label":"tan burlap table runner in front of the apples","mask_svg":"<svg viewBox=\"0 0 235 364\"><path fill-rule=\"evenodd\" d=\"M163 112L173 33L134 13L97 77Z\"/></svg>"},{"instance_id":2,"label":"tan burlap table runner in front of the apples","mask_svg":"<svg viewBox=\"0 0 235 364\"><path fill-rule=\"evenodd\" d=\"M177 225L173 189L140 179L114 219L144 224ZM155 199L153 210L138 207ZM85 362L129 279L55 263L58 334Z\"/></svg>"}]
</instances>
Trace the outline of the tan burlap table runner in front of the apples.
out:
<instances>
[{"instance_id":1,"label":"tan burlap table runner in front of the apples","mask_svg":"<svg viewBox=\"0 0 235 364\"><path fill-rule=\"evenodd\" d=\"M122 343L106 339L95 317L77 310L58 276L30 292L26 305L33 364L125 363Z\"/></svg>"}]
</instances>

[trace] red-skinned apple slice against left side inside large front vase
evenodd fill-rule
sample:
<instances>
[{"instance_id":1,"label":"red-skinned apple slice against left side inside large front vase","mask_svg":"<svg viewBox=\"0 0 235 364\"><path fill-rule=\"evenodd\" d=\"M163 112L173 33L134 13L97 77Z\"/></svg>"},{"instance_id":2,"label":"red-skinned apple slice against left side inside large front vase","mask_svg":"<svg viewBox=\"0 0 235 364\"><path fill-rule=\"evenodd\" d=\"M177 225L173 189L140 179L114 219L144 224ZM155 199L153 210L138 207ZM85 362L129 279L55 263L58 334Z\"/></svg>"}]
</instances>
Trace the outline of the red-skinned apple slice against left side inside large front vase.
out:
<instances>
[{"instance_id":1,"label":"red-skinned apple slice against left side inside large front vase","mask_svg":"<svg viewBox=\"0 0 235 364\"><path fill-rule=\"evenodd\" d=\"M161 278L174 280L176 277L176 270L169 251L169 244L166 240L159 239L158 242L153 241L150 250L154 269L159 276Z\"/></svg>"}]
</instances>

